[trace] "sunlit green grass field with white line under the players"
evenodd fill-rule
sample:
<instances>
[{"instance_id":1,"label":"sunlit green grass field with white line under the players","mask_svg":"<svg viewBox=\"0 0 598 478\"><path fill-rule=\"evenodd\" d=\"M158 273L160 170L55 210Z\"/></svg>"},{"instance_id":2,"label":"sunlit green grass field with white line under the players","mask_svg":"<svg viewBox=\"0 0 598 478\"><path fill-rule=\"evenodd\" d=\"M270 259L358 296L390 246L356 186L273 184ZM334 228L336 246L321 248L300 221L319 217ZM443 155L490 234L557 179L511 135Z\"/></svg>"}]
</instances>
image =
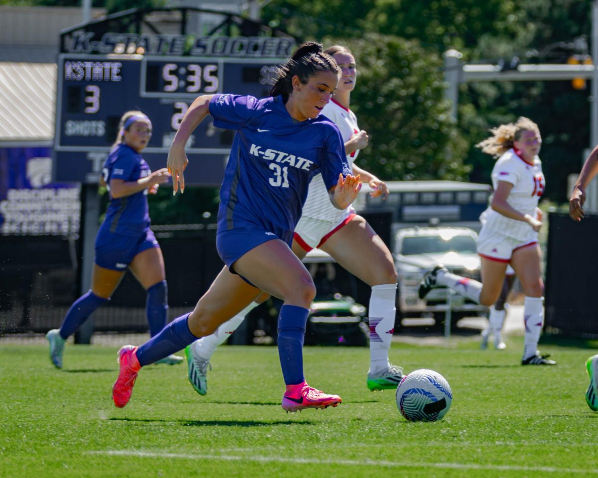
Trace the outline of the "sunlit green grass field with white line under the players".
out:
<instances>
[{"instance_id":1,"label":"sunlit green grass field with white line under the players","mask_svg":"<svg viewBox=\"0 0 598 478\"><path fill-rule=\"evenodd\" d=\"M343 403L286 414L275 347L222 347L205 397L185 364L146 367L117 409L118 347L67 345L56 370L41 345L1 343L0 476L598 476L598 413L584 399L594 344L544 344L559 364L521 367L522 340L503 352L393 344L393 363L451 385L449 413L429 423L405 421L393 391L367 390L367 348L306 347L308 382Z\"/></svg>"}]
</instances>

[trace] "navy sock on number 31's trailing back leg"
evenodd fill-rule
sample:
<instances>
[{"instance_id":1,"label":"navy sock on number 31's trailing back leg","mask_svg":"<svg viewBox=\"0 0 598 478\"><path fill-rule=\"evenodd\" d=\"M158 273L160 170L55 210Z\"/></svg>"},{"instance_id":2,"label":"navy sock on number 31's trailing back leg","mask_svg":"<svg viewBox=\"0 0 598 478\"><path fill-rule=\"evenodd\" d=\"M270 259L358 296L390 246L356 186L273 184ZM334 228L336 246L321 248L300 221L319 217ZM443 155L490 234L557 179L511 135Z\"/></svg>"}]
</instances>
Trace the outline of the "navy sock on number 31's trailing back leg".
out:
<instances>
[{"instance_id":1,"label":"navy sock on number 31's trailing back leg","mask_svg":"<svg viewBox=\"0 0 598 478\"><path fill-rule=\"evenodd\" d=\"M164 359L199 339L189 330L187 318L190 313L175 318L160 333L139 346L136 355L142 367Z\"/></svg>"}]
</instances>

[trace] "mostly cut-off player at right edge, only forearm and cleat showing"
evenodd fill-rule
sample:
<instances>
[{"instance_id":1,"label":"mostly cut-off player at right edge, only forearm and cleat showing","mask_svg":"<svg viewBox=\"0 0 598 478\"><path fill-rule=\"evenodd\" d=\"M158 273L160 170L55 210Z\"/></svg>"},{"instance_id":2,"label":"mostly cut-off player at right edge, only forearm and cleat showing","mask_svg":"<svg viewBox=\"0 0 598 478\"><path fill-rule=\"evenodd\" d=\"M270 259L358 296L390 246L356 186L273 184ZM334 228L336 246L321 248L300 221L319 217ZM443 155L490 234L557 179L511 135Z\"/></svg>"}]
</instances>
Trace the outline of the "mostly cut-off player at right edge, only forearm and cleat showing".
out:
<instances>
[{"instance_id":1,"label":"mostly cut-off player at right edge, only forearm and cleat showing","mask_svg":"<svg viewBox=\"0 0 598 478\"><path fill-rule=\"evenodd\" d=\"M588 184L596 174L598 174L598 146L594 147L587 160L585 160L584 167L581 168L581 173L579 173L569 199L569 216L576 222L585 217L585 189L587 189ZM588 358L585 361L585 367L590 376L590 385L588 385L588 390L585 392L585 402L590 409L598 412L598 355Z\"/></svg>"}]
</instances>

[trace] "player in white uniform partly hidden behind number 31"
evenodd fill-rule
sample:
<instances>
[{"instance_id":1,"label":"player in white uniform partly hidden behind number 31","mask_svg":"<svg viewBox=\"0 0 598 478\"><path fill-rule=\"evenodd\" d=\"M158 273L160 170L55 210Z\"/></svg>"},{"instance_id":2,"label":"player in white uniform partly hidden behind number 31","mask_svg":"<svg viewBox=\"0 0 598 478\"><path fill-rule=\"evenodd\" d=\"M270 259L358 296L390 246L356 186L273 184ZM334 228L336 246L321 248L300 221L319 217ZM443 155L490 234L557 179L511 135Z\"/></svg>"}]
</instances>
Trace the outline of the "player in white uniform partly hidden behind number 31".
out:
<instances>
[{"instance_id":1,"label":"player in white uniform partly hidden behind number 31","mask_svg":"<svg viewBox=\"0 0 598 478\"><path fill-rule=\"evenodd\" d=\"M353 163L359 149L368 145L368 134L360 130L355 114L349 109L350 94L355 88L357 69L355 58L347 48L334 46L328 53L338 63L341 78L334 98L322 110L331 119L343 137L347 163L353 174L374 190L374 196L386 197L386 183ZM331 207L328 192L321 174L313 177L309 185L301 219L295 227L293 252L303 259L307 252L318 247L329 253L347 271L371 286L368 308L370 324L370 370L367 386L370 390L396 388L403 376L402 368L390 364L388 352L395 327L396 271L388 247L373 231L367 221L348 207L338 210ZM209 360L245 319L245 315L267 299L263 294L228 322L222 324L211 336L204 337L187 347L188 378L199 394L206 394L206 373Z\"/></svg>"}]
</instances>

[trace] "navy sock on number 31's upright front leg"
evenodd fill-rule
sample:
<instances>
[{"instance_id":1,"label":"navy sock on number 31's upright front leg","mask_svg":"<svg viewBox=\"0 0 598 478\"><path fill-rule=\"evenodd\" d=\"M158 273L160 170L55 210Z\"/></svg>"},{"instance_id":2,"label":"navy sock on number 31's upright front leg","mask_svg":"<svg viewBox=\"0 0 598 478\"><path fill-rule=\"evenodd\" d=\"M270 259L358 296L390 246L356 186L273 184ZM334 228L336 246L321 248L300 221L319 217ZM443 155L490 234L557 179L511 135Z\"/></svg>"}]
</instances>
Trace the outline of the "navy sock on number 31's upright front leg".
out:
<instances>
[{"instance_id":1,"label":"navy sock on number 31's upright front leg","mask_svg":"<svg viewBox=\"0 0 598 478\"><path fill-rule=\"evenodd\" d=\"M283 305L278 319L278 355L286 385L304 381L303 339L309 310L296 305Z\"/></svg>"}]
</instances>

